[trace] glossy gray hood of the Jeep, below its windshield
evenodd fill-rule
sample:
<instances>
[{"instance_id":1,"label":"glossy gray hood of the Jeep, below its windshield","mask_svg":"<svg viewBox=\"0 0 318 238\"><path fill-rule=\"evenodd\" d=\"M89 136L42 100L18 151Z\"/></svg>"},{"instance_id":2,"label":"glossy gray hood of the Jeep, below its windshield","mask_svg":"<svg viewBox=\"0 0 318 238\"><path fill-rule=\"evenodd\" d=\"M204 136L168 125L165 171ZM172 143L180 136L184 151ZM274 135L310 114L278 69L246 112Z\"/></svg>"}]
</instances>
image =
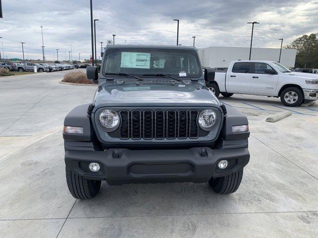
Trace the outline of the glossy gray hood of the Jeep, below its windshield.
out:
<instances>
[{"instance_id":1,"label":"glossy gray hood of the Jeep, below its windshield","mask_svg":"<svg viewBox=\"0 0 318 238\"><path fill-rule=\"evenodd\" d=\"M216 106L219 100L201 84L103 84L93 104L104 106Z\"/></svg>"}]
</instances>

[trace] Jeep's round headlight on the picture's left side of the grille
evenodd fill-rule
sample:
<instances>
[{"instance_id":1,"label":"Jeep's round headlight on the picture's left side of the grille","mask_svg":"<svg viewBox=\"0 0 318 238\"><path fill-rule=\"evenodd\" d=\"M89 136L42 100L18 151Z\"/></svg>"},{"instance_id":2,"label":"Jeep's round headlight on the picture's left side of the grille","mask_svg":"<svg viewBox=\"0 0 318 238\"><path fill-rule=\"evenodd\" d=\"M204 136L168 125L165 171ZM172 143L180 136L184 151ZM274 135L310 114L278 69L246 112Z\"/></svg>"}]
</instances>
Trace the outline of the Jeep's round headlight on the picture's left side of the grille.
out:
<instances>
[{"instance_id":1,"label":"Jeep's round headlight on the picture's left side of the grille","mask_svg":"<svg viewBox=\"0 0 318 238\"><path fill-rule=\"evenodd\" d=\"M111 132L116 130L120 125L119 114L112 109L103 109L98 113L98 124L102 130Z\"/></svg>"}]
</instances>

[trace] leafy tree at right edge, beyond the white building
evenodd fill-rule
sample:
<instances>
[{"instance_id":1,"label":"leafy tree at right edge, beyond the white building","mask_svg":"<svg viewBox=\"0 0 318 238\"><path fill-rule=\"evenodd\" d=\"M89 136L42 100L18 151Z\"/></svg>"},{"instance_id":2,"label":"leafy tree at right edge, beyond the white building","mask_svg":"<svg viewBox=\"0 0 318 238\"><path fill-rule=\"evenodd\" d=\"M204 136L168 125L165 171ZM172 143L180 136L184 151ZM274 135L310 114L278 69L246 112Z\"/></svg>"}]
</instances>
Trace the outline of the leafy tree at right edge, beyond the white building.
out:
<instances>
[{"instance_id":1,"label":"leafy tree at right edge, beyond the white building","mask_svg":"<svg viewBox=\"0 0 318 238\"><path fill-rule=\"evenodd\" d=\"M296 49L295 67L318 68L318 34L303 35L294 40L288 49Z\"/></svg>"}]
</instances>

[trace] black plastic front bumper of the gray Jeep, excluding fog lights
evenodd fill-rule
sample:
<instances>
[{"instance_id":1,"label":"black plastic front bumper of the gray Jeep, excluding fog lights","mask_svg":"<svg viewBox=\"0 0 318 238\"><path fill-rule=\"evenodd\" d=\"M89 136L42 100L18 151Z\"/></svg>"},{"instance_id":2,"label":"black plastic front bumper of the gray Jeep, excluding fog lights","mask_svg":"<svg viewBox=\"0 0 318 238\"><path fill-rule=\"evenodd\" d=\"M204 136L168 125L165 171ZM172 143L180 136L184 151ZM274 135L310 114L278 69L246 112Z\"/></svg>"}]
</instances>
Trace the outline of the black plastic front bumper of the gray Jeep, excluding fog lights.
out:
<instances>
[{"instance_id":1,"label":"black plastic front bumper of the gray Jeep, excluding fog lights","mask_svg":"<svg viewBox=\"0 0 318 238\"><path fill-rule=\"evenodd\" d=\"M228 160L227 169L218 162ZM241 170L249 161L247 148L211 149L194 147L178 150L128 150L65 152L66 166L86 179L106 179L110 185L155 182L207 182ZM88 165L96 162L98 172Z\"/></svg>"}]
</instances>

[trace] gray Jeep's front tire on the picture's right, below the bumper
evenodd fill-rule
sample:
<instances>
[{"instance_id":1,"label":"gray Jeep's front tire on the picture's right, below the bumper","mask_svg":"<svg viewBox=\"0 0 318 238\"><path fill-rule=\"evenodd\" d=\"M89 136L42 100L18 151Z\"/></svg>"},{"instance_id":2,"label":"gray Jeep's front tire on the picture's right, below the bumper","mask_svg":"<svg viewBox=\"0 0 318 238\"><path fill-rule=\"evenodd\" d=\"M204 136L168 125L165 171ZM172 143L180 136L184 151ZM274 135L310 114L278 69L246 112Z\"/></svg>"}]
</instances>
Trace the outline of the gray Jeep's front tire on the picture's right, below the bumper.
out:
<instances>
[{"instance_id":1,"label":"gray Jeep's front tire on the picture's right, below the bumper","mask_svg":"<svg viewBox=\"0 0 318 238\"><path fill-rule=\"evenodd\" d=\"M238 190L242 177L243 170L240 170L225 177L211 178L209 184L216 193L229 194Z\"/></svg>"}]
</instances>

